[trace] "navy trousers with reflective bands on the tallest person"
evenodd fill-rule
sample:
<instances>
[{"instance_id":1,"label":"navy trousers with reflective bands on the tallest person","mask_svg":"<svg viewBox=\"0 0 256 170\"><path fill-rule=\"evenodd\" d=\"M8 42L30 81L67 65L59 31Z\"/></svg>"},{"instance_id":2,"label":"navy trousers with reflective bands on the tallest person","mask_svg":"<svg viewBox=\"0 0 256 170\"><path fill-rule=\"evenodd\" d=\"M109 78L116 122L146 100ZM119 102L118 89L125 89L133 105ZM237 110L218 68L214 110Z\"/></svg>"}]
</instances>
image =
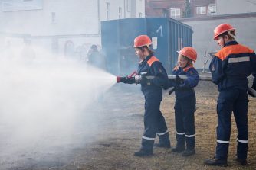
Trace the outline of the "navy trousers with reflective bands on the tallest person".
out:
<instances>
[{"instance_id":1,"label":"navy trousers with reflective bands on the tallest person","mask_svg":"<svg viewBox=\"0 0 256 170\"><path fill-rule=\"evenodd\" d=\"M235 117L238 129L237 156L246 159L248 152L248 94L246 90L229 88L220 91L218 96L217 114L217 146L216 158L228 158L228 146L231 135L231 114Z\"/></svg>"}]
</instances>

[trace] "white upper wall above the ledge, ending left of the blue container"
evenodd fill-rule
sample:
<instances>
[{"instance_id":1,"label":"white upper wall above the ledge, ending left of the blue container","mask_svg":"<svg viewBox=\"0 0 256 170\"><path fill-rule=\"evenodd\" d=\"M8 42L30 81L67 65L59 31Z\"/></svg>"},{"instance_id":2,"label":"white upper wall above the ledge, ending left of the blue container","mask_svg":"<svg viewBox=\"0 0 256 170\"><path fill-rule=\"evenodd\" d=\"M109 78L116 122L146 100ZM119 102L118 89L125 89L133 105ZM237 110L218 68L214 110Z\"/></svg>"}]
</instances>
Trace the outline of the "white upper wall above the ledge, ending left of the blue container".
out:
<instances>
[{"instance_id":1,"label":"white upper wall above the ledge, ending left of the blue container","mask_svg":"<svg viewBox=\"0 0 256 170\"><path fill-rule=\"evenodd\" d=\"M56 22L51 22L55 12ZM44 0L42 10L1 12L5 32L31 35L97 34L97 1Z\"/></svg>"}]
</instances>

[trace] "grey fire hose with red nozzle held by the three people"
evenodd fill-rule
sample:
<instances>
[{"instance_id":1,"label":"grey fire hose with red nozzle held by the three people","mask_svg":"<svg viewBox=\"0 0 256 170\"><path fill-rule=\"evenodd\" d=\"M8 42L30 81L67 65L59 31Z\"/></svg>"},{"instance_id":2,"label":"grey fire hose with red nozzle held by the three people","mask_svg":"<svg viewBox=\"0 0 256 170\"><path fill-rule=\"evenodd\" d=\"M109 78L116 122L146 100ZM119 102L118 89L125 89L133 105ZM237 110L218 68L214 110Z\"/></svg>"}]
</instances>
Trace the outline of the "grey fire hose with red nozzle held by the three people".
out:
<instances>
[{"instance_id":1,"label":"grey fire hose with red nozzle held by the three people","mask_svg":"<svg viewBox=\"0 0 256 170\"><path fill-rule=\"evenodd\" d=\"M136 83L136 75L137 72L134 71L130 75L127 75L125 77L117 76L117 83L119 82L127 82L128 84ZM146 79L154 79L155 76L153 75L146 75L146 72L141 73L142 76L144 76ZM168 75L168 79L174 80L177 79L177 75ZM179 75L179 79L188 79L186 75ZM256 79L256 78L255 78ZM212 76L205 76L205 75L199 75L200 81L212 81ZM137 83L136 83L137 84ZM175 88L169 91L169 95L175 91ZM256 97L256 90L254 88L248 87L248 94L251 95L251 97Z\"/></svg>"}]
</instances>

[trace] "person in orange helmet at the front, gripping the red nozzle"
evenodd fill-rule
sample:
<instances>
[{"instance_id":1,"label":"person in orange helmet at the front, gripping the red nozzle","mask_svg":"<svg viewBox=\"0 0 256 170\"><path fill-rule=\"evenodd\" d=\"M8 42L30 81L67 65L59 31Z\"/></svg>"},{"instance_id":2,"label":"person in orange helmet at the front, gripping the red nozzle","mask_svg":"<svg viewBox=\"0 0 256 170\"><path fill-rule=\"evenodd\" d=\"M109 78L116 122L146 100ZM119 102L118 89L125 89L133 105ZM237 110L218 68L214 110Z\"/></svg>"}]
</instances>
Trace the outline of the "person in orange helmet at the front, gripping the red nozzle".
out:
<instances>
[{"instance_id":1,"label":"person in orange helmet at the front, gripping the red nozzle","mask_svg":"<svg viewBox=\"0 0 256 170\"><path fill-rule=\"evenodd\" d=\"M142 137L142 146L134 156L150 156L153 155L153 145L156 134L159 136L159 143L155 146L170 148L169 132L166 126L166 120L160 111L162 101L162 86L167 85L168 75L166 69L163 68L159 59L153 55L153 51L149 49L152 42L147 35L140 35L134 39L136 55L140 62L138 66L135 80L126 79L124 83L140 83L141 91L145 98L145 114L144 114L144 133ZM153 79L146 79L146 76L153 76Z\"/></svg>"}]
</instances>

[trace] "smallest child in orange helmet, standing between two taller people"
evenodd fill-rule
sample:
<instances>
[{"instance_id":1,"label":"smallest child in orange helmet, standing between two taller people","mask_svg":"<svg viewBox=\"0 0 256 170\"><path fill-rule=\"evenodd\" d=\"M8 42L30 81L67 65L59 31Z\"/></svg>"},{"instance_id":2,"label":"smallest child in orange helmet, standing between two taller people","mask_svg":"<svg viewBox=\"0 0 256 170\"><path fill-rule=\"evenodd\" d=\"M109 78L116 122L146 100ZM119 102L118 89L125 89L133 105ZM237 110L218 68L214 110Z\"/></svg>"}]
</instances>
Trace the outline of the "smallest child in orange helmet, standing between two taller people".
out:
<instances>
[{"instance_id":1,"label":"smallest child in orange helmet, standing between two taller people","mask_svg":"<svg viewBox=\"0 0 256 170\"><path fill-rule=\"evenodd\" d=\"M191 156L195 154L196 99L194 87L198 85L199 74L193 67L193 62L195 62L197 54L192 47L184 47L178 53L178 66L172 71L172 75L176 75L176 79L170 81L170 86L174 87L176 95L174 110L177 143L172 152L182 152L182 156ZM180 79L179 75L186 75L187 79ZM172 91L169 92L169 95Z\"/></svg>"}]
</instances>

